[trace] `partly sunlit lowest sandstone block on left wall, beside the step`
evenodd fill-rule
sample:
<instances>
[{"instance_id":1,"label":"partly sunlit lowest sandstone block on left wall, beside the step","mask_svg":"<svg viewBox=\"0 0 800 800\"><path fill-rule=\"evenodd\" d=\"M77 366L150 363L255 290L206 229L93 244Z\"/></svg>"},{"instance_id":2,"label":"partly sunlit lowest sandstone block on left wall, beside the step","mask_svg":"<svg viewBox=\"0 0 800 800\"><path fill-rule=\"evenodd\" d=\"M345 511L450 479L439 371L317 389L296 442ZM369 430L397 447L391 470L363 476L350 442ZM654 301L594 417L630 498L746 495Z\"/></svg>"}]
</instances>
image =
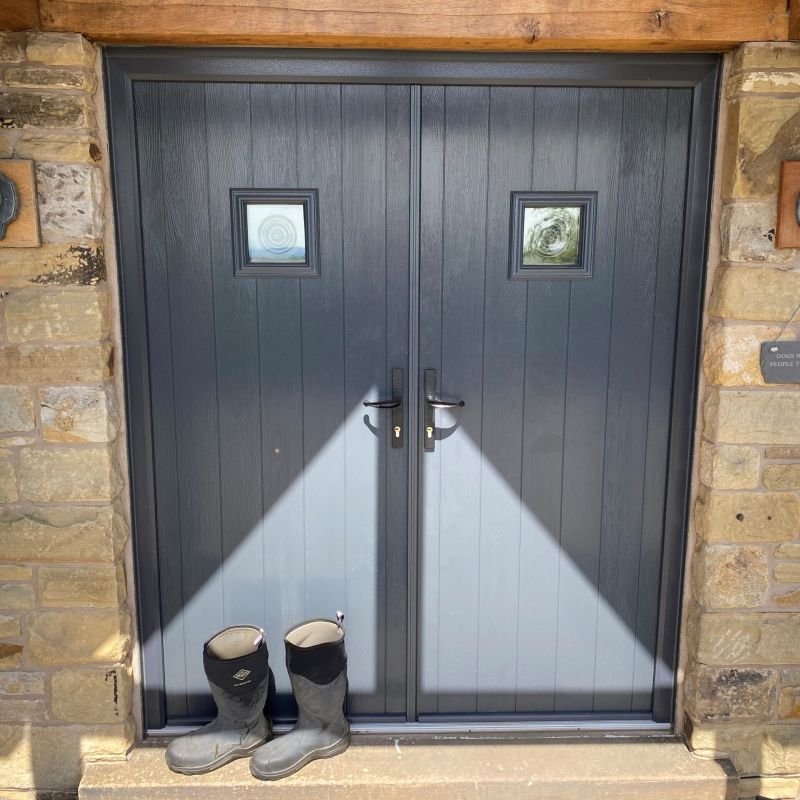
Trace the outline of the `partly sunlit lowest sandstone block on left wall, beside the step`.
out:
<instances>
[{"instance_id":1,"label":"partly sunlit lowest sandstone block on left wall, beside the step","mask_svg":"<svg viewBox=\"0 0 800 800\"><path fill-rule=\"evenodd\" d=\"M124 756L134 740L130 720L113 725L0 725L0 771L20 789L72 790L83 760Z\"/></svg>"}]
</instances>

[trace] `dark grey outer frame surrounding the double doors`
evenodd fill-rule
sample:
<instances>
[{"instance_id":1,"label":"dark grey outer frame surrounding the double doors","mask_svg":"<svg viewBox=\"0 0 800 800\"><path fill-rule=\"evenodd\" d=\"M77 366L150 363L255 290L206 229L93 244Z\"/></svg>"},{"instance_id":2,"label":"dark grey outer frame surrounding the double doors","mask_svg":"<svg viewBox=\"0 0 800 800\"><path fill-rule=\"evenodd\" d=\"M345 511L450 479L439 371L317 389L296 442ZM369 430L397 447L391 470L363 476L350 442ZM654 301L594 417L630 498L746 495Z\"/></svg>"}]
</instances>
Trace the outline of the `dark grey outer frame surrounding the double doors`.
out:
<instances>
[{"instance_id":1,"label":"dark grey outer frame surrounding the double doors","mask_svg":"<svg viewBox=\"0 0 800 800\"><path fill-rule=\"evenodd\" d=\"M659 591L653 722L662 731L674 723L678 636L683 591L684 551L689 511L692 444L700 350L702 297L710 213L711 178L716 134L720 57L713 54L588 55L423 53L405 51L327 51L263 48L180 48L115 46L105 49L106 102L116 245L121 295L123 373L130 465L131 536L134 547L136 607L142 663L144 728L155 732L166 724L161 609L155 517L155 485L147 352L147 315L141 241L133 85L136 81L200 81L249 83L406 84L412 87L413 115L424 85L583 86L689 88L692 112L689 162L681 253L681 280L675 342L675 372L671 398ZM413 128L412 128L413 129ZM419 166L419 142L412 138L411 168ZM410 284L419 286L419 186L411 204ZM418 294L418 292L417 292ZM418 379L417 304L410 303L409 376ZM419 403L409 395L409 430L419 428ZM135 432L136 435L132 435ZM412 444L409 436L407 441ZM408 507L408 709L416 706L416 633L418 609L419 464L409 450ZM413 718L409 714L410 718ZM507 716L486 717L482 729L542 727L536 720L509 722ZM482 723L448 721L448 729L475 730ZM593 725L563 720L561 728ZM406 723L411 730L414 723ZM499 726L499 727L498 727ZM375 725L369 725L374 730ZM394 726L396 727L396 726ZM440 730L441 726L423 728ZM619 727L617 723L608 727ZM623 727L628 727L623 725Z\"/></svg>"}]
</instances>

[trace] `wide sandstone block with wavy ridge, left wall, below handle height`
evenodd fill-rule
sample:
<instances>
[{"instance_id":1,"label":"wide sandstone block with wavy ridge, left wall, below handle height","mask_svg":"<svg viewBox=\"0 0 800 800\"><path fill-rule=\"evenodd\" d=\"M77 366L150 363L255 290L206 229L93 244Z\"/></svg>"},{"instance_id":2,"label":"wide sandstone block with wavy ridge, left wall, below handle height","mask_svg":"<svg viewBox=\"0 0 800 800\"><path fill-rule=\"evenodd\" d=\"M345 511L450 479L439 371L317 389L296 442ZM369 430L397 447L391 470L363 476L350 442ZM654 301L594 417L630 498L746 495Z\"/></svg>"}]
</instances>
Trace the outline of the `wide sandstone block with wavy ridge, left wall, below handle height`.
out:
<instances>
[{"instance_id":1,"label":"wide sandstone block with wavy ridge, left wall, below handle height","mask_svg":"<svg viewBox=\"0 0 800 800\"><path fill-rule=\"evenodd\" d=\"M125 522L111 506L0 509L0 558L36 562L113 563Z\"/></svg>"}]
</instances>

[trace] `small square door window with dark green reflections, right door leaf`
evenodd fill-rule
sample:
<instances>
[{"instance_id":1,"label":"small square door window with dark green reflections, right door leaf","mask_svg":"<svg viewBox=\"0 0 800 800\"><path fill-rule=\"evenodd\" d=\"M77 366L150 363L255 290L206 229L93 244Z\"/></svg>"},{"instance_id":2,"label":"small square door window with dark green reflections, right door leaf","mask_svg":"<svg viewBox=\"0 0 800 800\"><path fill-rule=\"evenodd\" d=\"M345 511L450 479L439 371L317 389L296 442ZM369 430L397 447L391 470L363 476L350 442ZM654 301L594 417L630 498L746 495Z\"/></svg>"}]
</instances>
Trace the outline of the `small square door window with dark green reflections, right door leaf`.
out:
<instances>
[{"instance_id":1,"label":"small square door window with dark green reflections, right door leaf","mask_svg":"<svg viewBox=\"0 0 800 800\"><path fill-rule=\"evenodd\" d=\"M512 192L512 280L592 277L597 192Z\"/></svg>"}]
</instances>

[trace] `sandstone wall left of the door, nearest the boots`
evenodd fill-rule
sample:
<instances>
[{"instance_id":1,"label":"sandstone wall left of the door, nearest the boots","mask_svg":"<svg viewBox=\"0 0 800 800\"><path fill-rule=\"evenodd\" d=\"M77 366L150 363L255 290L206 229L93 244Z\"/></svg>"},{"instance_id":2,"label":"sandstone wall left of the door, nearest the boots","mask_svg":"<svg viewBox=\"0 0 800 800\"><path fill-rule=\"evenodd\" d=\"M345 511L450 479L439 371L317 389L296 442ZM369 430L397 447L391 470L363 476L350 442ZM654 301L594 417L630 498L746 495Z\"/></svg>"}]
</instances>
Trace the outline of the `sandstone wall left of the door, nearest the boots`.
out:
<instances>
[{"instance_id":1,"label":"sandstone wall left of the door, nearest the boots","mask_svg":"<svg viewBox=\"0 0 800 800\"><path fill-rule=\"evenodd\" d=\"M0 34L0 158L34 160L42 237L0 247L3 798L74 790L133 739L97 60Z\"/></svg>"}]
</instances>

